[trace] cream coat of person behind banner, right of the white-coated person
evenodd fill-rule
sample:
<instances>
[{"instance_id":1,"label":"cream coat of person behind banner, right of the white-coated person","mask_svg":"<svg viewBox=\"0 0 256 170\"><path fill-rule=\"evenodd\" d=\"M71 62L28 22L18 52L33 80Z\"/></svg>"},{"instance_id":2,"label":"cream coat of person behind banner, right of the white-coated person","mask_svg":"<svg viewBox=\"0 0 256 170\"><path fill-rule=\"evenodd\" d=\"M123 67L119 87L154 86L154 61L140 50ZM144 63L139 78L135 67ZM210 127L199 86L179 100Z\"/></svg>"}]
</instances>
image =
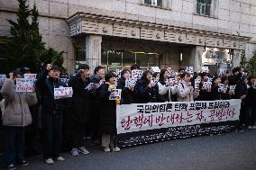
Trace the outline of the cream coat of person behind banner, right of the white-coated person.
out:
<instances>
[{"instance_id":1,"label":"cream coat of person behind banner, right of the white-coated person","mask_svg":"<svg viewBox=\"0 0 256 170\"><path fill-rule=\"evenodd\" d=\"M178 84L178 102L193 102L197 98L199 92L197 89L190 90L184 80Z\"/></svg>"}]
</instances>

